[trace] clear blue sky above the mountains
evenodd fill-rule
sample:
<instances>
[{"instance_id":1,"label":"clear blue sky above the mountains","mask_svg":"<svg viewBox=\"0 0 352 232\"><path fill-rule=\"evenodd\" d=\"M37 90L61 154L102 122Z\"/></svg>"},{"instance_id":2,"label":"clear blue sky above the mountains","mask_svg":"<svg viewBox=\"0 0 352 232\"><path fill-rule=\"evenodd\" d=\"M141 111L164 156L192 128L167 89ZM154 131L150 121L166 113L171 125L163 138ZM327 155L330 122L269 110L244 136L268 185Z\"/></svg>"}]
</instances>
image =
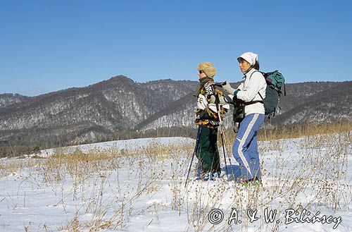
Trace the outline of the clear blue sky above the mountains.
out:
<instances>
[{"instance_id":1,"label":"clear blue sky above the mountains","mask_svg":"<svg viewBox=\"0 0 352 232\"><path fill-rule=\"evenodd\" d=\"M351 2L0 0L0 93L197 80L199 61L239 81L245 51L288 83L351 80Z\"/></svg>"}]
</instances>

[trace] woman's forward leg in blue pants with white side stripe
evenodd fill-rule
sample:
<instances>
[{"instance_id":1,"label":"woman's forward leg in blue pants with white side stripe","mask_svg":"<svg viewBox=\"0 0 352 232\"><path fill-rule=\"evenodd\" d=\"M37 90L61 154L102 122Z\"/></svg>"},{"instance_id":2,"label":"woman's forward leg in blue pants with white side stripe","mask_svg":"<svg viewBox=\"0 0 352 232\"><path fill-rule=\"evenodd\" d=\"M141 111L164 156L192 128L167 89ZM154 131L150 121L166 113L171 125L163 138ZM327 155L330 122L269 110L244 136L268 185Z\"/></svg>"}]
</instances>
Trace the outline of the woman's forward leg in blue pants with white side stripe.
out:
<instances>
[{"instance_id":1,"label":"woman's forward leg in blue pants with white side stripe","mask_svg":"<svg viewBox=\"0 0 352 232\"><path fill-rule=\"evenodd\" d=\"M249 143L253 140L253 137L260 125L263 123L263 120L263 114L249 114L244 117L244 120L239 126L239 131L232 147L232 153L234 158L239 163L242 172L241 177L248 180L255 176L255 170L253 169L253 164L251 163L251 155L248 152Z\"/></svg>"}]
</instances>

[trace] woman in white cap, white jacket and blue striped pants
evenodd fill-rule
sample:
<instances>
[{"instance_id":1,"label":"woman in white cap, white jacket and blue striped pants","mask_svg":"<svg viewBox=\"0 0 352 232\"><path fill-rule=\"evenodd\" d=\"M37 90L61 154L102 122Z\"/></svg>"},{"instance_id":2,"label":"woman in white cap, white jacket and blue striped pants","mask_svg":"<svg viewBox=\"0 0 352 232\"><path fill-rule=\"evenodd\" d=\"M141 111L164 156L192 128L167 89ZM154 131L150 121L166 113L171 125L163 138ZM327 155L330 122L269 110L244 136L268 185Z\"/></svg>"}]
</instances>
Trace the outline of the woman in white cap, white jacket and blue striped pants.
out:
<instances>
[{"instance_id":1,"label":"woman in white cap, white jacket and blue striped pants","mask_svg":"<svg viewBox=\"0 0 352 232\"><path fill-rule=\"evenodd\" d=\"M239 163L242 183L260 182L260 161L258 153L257 134L264 122L265 109L263 99L267 87L265 78L259 70L258 55L252 52L241 54L237 59L239 68L244 73L244 82L234 89L228 82L222 87L229 94L234 95L234 100L244 101L245 117L241 121L239 130L234 140L232 153Z\"/></svg>"}]
</instances>

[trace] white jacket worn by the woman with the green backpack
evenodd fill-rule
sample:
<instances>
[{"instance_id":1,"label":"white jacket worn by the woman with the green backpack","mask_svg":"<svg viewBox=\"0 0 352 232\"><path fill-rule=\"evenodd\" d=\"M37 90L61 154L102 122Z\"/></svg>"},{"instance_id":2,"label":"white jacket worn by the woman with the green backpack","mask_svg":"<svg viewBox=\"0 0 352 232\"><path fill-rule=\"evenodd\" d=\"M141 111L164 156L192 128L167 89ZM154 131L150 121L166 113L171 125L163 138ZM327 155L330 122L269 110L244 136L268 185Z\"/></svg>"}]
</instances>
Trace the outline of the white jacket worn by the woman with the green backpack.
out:
<instances>
[{"instance_id":1,"label":"white jacket worn by the woman with the green backpack","mask_svg":"<svg viewBox=\"0 0 352 232\"><path fill-rule=\"evenodd\" d=\"M263 74L252 68L246 73L244 82L237 87L237 90L241 90L237 92L237 98L244 102L263 101L258 94L260 92L262 97L265 98L266 82ZM246 116L249 114L265 114L264 104L260 102L249 104L245 106L244 112Z\"/></svg>"}]
</instances>

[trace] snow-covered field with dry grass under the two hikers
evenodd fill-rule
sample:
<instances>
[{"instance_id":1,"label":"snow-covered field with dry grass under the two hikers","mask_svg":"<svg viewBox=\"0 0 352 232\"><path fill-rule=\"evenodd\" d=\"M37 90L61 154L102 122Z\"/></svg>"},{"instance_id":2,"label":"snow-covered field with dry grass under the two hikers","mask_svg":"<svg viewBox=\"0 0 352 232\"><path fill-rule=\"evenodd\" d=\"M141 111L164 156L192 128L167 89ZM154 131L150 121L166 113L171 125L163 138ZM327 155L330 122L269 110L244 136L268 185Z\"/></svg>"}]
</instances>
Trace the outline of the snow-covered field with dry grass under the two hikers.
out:
<instances>
[{"instance_id":1,"label":"snow-covered field with dry grass under the two hikers","mask_svg":"<svg viewBox=\"0 0 352 232\"><path fill-rule=\"evenodd\" d=\"M189 180L184 188L189 138L0 159L0 232L352 231L351 138L352 132L260 142L259 187L219 179ZM222 152L220 158L224 167ZM230 174L237 171L231 163Z\"/></svg>"}]
</instances>

